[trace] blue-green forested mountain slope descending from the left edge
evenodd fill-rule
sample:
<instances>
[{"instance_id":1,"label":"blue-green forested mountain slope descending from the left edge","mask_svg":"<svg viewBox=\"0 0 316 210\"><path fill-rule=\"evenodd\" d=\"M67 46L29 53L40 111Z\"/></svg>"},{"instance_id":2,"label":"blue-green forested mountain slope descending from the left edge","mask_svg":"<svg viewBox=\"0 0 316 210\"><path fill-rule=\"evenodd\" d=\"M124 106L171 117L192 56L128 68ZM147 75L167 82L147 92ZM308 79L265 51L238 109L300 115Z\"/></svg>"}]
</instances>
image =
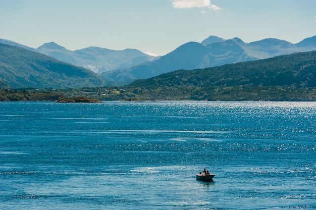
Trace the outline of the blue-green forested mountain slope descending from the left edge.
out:
<instances>
[{"instance_id":1,"label":"blue-green forested mountain slope descending from the left edge","mask_svg":"<svg viewBox=\"0 0 316 210\"><path fill-rule=\"evenodd\" d=\"M76 88L104 85L95 73L34 51L0 43L2 88Z\"/></svg>"}]
</instances>

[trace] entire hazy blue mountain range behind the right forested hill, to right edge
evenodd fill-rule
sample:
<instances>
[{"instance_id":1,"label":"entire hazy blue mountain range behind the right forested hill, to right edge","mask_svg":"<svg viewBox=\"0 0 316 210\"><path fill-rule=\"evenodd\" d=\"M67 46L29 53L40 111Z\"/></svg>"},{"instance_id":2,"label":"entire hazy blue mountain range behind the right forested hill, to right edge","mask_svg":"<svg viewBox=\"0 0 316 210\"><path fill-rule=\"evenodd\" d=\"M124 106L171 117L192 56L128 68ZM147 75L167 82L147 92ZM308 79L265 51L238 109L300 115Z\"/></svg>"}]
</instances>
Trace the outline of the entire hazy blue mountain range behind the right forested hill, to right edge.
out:
<instances>
[{"instance_id":1,"label":"entire hazy blue mountain range behind the right forested hill, to right edge","mask_svg":"<svg viewBox=\"0 0 316 210\"><path fill-rule=\"evenodd\" d=\"M150 63L143 63L127 69L104 72L105 80L128 81L146 79L179 69L200 69L224 64L253 61L316 50L316 36L292 44L280 39L263 39L244 43L239 38L224 40L210 36L204 43L188 42L171 53ZM208 44L205 44L208 43Z\"/></svg>"}]
</instances>

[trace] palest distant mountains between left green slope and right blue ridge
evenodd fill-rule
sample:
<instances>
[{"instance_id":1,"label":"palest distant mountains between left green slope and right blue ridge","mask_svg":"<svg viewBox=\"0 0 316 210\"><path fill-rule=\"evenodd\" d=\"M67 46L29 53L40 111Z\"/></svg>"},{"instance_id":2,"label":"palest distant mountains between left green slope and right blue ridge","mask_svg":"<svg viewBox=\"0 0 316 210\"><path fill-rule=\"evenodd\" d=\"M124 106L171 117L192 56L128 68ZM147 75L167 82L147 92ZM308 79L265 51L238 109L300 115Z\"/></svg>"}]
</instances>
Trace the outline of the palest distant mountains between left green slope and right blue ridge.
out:
<instances>
[{"instance_id":1,"label":"palest distant mountains between left green slope and right blue ridge","mask_svg":"<svg viewBox=\"0 0 316 210\"><path fill-rule=\"evenodd\" d=\"M129 68L156 59L137 49L112 50L91 46L71 51L55 42L45 43L38 47L37 51L96 73Z\"/></svg>"}]
</instances>

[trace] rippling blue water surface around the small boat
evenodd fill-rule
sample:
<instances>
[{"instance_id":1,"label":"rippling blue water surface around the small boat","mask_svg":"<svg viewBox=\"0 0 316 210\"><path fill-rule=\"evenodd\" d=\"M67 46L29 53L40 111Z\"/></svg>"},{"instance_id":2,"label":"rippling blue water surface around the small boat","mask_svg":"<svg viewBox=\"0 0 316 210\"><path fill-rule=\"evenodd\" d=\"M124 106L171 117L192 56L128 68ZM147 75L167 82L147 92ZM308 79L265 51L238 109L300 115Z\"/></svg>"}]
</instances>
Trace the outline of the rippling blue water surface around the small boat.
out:
<instances>
[{"instance_id":1,"label":"rippling blue water surface around the small boat","mask_svg":"<svg viewBox=\"0 0 316 210\"><path fill-rule=\"evenodd\" d=\"M0 103L0 209L316 208L315 183L315 102Z\"/></svg>"}]
</instances>

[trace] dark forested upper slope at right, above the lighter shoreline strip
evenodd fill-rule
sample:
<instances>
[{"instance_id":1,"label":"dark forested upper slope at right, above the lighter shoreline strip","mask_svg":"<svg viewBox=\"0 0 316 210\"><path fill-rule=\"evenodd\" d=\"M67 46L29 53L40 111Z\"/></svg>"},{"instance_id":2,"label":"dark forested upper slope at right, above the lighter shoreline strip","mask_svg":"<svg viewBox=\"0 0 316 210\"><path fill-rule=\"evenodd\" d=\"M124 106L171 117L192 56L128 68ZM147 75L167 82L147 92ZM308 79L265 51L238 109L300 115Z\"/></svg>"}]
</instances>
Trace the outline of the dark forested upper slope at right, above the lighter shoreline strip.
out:
<instances>
[{"instance_id":1,"label":"dark forested upper slope at right, above the lighter shoreline strip","mask_svg":"<svg viewBox=\"0 0 316 210\"><path fill-rule=\"evenodd\" d=\"M178 70L146 80L131 87L228 87L228 86L316 87L316 51L241 62L219 67Z\"/></svg>"}]
</instances>

